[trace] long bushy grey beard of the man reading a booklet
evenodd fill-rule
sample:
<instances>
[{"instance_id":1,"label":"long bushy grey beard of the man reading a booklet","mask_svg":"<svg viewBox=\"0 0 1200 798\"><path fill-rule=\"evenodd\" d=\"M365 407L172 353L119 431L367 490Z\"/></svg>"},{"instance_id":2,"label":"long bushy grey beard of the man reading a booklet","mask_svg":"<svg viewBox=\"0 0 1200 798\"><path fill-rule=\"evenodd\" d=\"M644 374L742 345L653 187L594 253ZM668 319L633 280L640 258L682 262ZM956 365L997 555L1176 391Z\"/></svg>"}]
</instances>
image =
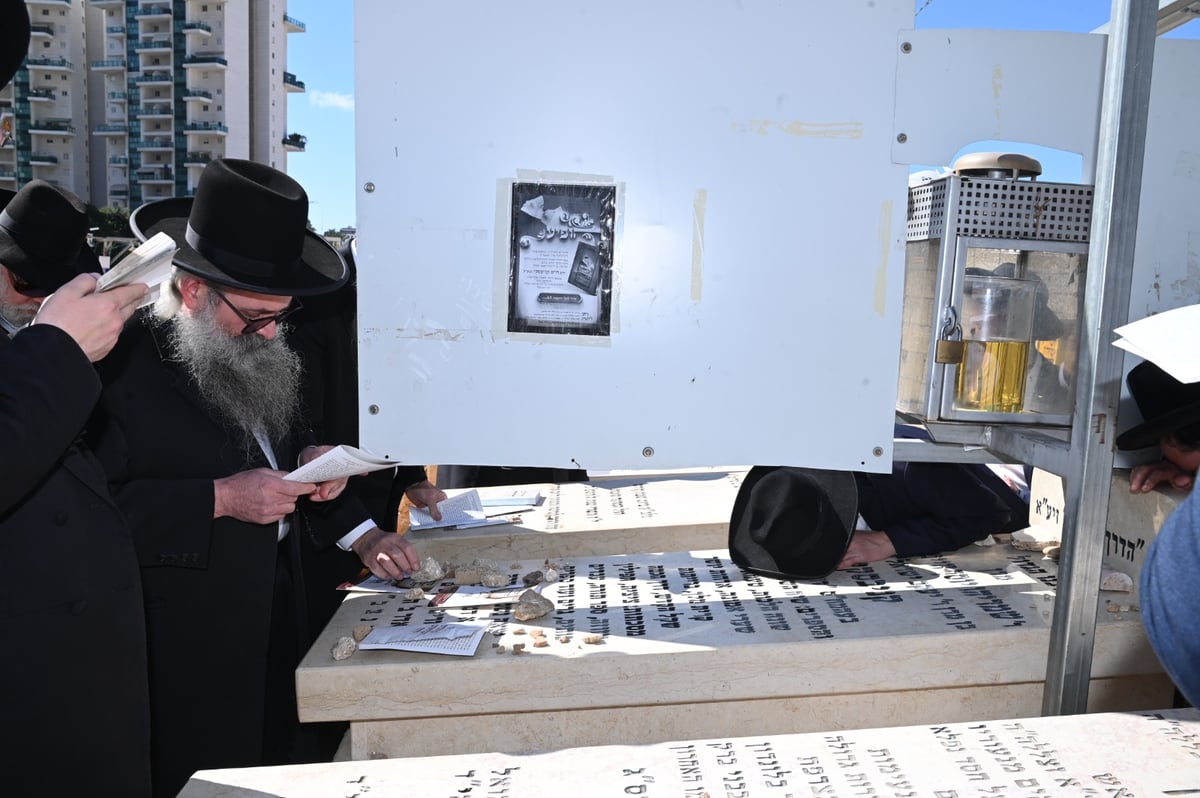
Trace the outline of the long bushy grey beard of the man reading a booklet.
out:
<instances>
[{"instance_id":1,"label":"long bushy grey beard of the man reading a booklet","mask_svg":"<svg viewBox=\"0 0 1200 798\"><path fill-rule=\"evenodd\" d=\"M245 433L248 449L256 432L272 445L288 437L299 414L302 368L286 343L284 328L270 341L257 334L229 335L217 325L216 308L205 304L168 322L168 336L200 396Z\"/></svg>"}]
</instances>

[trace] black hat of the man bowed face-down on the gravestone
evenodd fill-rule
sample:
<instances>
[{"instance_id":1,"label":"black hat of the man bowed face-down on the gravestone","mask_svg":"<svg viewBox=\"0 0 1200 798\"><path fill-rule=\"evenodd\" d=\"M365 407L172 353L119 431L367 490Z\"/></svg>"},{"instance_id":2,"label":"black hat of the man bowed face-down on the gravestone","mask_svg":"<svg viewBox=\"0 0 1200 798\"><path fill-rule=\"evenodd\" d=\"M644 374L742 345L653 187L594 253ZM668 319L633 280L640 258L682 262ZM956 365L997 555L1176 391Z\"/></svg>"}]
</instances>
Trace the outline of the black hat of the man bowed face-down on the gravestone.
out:
<instances>
[{"instance_id":1,"label":"black hat of the man bowed face-down on the gravestone","mask_svg":"<svg viewBox=\"0 0 1200 798\"><path fill-rule=\"evenodd\" d=\"M851 472L755 466L733 500L730 557L752 574L817 580L838 568L857 518Z\"/></svg>"}]
</instances>

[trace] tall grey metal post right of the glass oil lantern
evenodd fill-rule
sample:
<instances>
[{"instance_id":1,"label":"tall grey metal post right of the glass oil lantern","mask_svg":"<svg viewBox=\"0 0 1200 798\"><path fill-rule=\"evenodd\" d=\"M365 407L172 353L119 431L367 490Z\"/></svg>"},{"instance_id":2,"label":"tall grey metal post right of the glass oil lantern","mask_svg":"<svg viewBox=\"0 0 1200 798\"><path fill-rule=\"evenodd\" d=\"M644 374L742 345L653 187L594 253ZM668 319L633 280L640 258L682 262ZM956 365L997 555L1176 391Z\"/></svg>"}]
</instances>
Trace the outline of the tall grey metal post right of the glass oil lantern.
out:
<instances>
[{"instance_id":1,"label":"tall grey metal post right of the glass oil lantern","mask_svg":"<svg viewBox=\"0 0 1200 798\"><path fill-rule=\"evenodd\" d=\"M1087 710L1157 22L1157 0L1112 2L1045 715Z\"/></svg>"}]
</instances>

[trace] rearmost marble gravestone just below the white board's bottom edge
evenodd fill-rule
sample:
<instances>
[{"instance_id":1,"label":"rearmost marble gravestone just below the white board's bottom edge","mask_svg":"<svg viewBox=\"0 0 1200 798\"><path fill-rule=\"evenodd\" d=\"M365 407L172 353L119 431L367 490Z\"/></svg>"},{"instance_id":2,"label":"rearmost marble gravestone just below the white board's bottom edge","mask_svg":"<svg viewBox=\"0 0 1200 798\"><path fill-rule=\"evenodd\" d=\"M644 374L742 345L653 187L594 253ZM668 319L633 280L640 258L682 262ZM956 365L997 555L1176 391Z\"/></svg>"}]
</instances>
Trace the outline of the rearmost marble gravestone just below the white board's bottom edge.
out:
<instances>
[{"instance_id":1,"label":"rearmost marble gravestone just below the white board's bottom edge","mask_svg":"<svg viewBox=\"0 0 1200 798\"><path fill-rule=\"evenodd\" d=\"M720 548L746 469L594 476L539 485L541 503L515 523L468 529L410 529L421 557L533 559ZM479 488L481 497L499 488ZM457 493L458 491L450 491Z\"/></svg>"}]
</instances>

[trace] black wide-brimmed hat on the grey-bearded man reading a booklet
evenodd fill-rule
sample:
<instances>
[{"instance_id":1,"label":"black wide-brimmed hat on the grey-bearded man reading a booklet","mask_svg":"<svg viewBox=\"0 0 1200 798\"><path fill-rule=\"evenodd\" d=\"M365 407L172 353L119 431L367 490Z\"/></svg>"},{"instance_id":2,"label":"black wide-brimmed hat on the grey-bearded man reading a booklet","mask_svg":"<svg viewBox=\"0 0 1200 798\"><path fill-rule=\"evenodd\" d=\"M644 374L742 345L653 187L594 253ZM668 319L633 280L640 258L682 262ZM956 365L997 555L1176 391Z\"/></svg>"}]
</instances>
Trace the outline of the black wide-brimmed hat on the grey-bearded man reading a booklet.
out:
<instances>
[{"instance_id":1,"label":"black wide-brimmed hat on the grey-bearded man reading a booklet","mask_svg":"<svg viewBox=\"0 0 1200 798\"><path fill-rule=\"evenodd\" d=\"M346 282L342 257L308 230L308 194L278 169L236 158L204 167L196 197L160 199L130 215L143 241L167 233L176 266L259 294L307 296Z\"/></svg>"}]
</instances>

